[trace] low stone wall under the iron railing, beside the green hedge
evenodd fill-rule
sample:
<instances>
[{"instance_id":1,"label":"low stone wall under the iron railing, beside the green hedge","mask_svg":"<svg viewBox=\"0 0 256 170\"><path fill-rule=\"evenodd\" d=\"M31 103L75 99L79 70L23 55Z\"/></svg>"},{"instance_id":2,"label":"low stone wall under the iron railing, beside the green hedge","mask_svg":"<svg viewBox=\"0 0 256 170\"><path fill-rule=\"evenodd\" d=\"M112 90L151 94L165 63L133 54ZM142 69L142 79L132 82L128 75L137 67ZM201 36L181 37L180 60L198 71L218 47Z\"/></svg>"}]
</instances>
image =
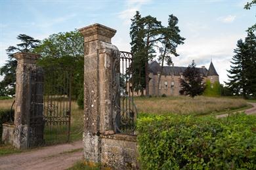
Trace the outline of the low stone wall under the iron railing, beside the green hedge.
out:
<instances>
[{"instance_id":1,"label":"low stone wall under the iron railing, beside the green hedge","mask_svg":"<svg viewBox=\"0 0 256 170\"><path fill-rule=\"evenodd\" d=\"M101 163L112 169L139 169L137 140L131 135L101 135Z\"/></svg>"}]
</instances>

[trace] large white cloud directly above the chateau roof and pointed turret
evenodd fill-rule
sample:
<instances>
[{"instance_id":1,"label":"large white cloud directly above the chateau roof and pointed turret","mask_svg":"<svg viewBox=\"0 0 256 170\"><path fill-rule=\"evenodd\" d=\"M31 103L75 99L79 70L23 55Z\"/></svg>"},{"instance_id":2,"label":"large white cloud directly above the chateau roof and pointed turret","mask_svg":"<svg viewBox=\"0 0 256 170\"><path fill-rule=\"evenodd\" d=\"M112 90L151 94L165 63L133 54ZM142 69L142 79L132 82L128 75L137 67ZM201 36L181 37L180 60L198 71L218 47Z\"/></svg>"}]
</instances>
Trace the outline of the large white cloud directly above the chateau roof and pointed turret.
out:
<instances>
[{"instance_id":1,"label":"large white cloud directly above the chateau roof and pointed turret","mask_svg":"<svg viewBox=\"0 0 256 170\"><path fill-rule=\"evenodd\" d=\"M173 62L177 66L188 66L195 60L196 64L201 67L205 65L208 69L211 58L213 59L213 65L221 83L227 81L227 69L230 69L230 61L234 56L234 48L236 48L236 42L238 39L245 35L219 35L201 38L186 39L186 42L177 48L179 57L173 57Z\"/></svg>"}]
</instances>

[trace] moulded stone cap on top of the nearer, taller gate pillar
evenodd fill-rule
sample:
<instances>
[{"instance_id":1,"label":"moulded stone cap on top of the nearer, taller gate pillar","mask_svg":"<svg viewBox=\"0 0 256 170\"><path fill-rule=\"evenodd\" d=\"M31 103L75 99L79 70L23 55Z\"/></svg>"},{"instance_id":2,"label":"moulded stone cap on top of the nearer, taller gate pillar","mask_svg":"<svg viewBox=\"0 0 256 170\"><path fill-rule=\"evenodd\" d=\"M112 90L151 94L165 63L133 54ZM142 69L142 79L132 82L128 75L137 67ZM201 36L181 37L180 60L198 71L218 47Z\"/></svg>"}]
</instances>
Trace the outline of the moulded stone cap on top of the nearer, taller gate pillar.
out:
<instances>
[{"instance_id":1,"label":"moulded stone cap on top of the nearer, taller gate pillar","mask_svg":"<svg viewBox=\"0 0 256 170\"><path fill-rule=\"evenodd\" d=\"M116 34L116 30L101 24L93 24L78 29L83 35L85 42L104 41L111 43L111 38Z\"/></svg>"}]
</instances>

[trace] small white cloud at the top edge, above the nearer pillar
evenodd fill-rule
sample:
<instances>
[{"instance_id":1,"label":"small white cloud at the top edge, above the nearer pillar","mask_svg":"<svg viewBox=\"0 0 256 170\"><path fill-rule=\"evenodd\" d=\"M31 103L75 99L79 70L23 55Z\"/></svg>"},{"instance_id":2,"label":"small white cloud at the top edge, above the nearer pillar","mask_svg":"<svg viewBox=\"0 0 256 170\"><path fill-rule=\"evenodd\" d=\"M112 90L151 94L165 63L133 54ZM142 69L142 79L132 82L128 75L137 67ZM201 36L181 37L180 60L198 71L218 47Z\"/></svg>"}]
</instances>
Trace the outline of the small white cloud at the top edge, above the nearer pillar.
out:
<instances>
[{"instance_id":1,"label":"small white cloud at the top edge, above the nearer pillar","mask_svg":"<svg viewBox=\"0 0 256 170\"><path fill-rule=\"evenodd\" d=\"M135 15L137 10L140 10L142 5L150 3L151 0L127 0L126 1L126 10L119 12L118 17L123 19L123 24L129 25L131 18Z\"/></svg>"}]
</instances>

